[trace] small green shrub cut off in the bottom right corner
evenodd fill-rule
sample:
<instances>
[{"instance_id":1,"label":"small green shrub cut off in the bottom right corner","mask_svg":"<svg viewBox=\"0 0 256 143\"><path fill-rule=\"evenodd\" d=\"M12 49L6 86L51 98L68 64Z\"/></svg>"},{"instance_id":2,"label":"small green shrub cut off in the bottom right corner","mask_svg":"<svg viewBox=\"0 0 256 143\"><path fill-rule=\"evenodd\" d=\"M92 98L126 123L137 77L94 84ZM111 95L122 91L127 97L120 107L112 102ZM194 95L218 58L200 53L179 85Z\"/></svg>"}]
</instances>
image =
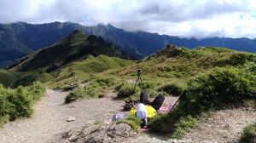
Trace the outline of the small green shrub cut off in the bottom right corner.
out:
<instances>
[{"instance_id":1,"label":"small green shrub cut off in the bottom right corner","mask_svg":"<svg viewBox=\"0 0 256 143\"><path fill-rule=\"evenodd\" d=\"M256 122L247 125L241 134L241 143L254 143L256 142Z\"/></svg>"}]
</instances>

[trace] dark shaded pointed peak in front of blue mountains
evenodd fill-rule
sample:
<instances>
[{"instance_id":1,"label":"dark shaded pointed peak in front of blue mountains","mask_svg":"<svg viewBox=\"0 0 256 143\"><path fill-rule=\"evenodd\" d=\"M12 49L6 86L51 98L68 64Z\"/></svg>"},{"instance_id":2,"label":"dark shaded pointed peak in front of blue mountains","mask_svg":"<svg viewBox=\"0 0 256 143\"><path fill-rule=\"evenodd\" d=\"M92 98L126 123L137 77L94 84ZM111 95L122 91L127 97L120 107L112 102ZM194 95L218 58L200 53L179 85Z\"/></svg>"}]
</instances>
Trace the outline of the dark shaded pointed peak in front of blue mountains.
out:
<instances>
[{"instance_id":1,"label":"dark shaded pointed peak in front of blue mountains","mask_svg":"<svg viewBox=\"0 0 256 143\"><path fill-rule=\"evenodd\" d=\"M112 43L105 42L102 37L87 37L80 31L73 31L71 35L49 48L41 49L24 57L9 68L12 71L27 72L44 69L51 72L74 60L83 59L88 54L125 57L117 50L117 47Z\"/></svg>"}]
</instances>

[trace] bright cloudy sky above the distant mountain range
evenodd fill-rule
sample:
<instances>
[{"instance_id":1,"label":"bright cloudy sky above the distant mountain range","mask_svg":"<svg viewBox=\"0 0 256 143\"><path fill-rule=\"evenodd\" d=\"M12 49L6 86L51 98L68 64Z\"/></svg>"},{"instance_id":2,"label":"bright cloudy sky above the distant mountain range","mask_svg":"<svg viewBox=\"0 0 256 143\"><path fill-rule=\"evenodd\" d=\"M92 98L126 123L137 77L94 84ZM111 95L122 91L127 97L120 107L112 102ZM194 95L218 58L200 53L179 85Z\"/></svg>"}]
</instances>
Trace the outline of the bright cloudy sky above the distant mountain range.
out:
<instances>
[{"instance_id":1,"label":"bright cloudy sky above the distant mountain range","mask_svg":"<svg viewBox=\"0 0 256 143\"><path fill-rule=\"evenodd\" d=\"M253 0L0 0L0 23L72 21L179 37L256 38Z\"/></svg>"}]
</instances>

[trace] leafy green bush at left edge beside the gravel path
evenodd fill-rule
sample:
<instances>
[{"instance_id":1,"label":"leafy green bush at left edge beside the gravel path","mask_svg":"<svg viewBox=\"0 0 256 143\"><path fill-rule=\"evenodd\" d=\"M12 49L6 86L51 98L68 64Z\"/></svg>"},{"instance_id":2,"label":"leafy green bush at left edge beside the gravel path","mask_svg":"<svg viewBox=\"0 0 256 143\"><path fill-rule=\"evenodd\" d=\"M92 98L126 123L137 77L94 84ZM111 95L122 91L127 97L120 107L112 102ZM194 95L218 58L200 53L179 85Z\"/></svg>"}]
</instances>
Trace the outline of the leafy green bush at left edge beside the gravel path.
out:
<instances>
[{"instance_id":1,"label":"leafy green bush at left edge beside the gravel path","mask_svg":"<svg viewBox=\"0 0 256 143\"><path fill-rule=\"evenodd\" d=\"M30 117L33 112L32 104L39 100L44 91L41 83L17 89L5 89L0 85L0 125L20 117Z\"/></svg>"}]
</instances>

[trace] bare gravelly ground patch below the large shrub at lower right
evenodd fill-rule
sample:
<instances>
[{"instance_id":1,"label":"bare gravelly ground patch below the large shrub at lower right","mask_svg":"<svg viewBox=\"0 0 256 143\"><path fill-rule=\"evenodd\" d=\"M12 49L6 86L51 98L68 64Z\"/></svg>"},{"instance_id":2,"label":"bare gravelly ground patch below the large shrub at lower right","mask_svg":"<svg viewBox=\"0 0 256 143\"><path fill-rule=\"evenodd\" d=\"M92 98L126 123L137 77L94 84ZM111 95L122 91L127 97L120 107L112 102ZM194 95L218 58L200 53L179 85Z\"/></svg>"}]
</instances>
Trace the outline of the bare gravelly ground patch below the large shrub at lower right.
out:
<instances>
[{"instance_id":1,"label":"bare gravelly ground patch below the large shrub at lower right","mask_svg":"<svg viewBox=\"0 0 256 143\"><path fill-rule=\"evenodd\" d=\"M235 143L242 129L256 121L255 109L226 109L201 119L200 125L186 135L185 140L195 143Z\"/></svg>"}]
</instances>

